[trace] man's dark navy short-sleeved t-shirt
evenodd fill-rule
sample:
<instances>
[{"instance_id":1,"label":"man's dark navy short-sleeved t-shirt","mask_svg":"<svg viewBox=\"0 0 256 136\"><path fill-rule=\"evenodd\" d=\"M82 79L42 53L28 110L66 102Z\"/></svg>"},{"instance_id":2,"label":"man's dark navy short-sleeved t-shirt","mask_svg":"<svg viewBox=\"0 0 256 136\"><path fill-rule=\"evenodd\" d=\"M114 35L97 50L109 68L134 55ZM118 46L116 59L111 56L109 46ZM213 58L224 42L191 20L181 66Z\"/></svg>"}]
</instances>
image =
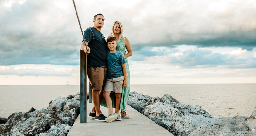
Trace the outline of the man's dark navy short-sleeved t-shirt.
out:
<instances>
[{"instance_id":1,"label":"man's dark navy short-sleeved t-shirt","mask_svg":"<svg viewBox=\"0 0 256 136\"><path fill-rule=\"evenodd\" d=\"M94 27L84 31L84 39L91 51L87 56L88 67L107 67L107 42L104 35ZM84 41L83 39L83 41Z\"/></svg>"}]
</instances>

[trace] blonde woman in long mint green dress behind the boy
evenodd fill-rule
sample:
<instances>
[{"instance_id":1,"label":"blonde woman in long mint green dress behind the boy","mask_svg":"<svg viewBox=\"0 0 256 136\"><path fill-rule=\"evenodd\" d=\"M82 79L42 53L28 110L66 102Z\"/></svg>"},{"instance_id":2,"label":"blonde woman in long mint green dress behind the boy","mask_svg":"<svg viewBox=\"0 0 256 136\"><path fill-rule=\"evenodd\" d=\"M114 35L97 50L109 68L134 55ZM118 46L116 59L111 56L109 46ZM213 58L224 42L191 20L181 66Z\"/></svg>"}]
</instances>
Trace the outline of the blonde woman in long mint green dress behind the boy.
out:
<instances>
[{"instance_id":1,"label":"blonde woman in long mint green dress behind the boy","mask_svg":"<svg viewBox=\"0 0 256 136\"><path fill-rule=\"evenodd\" d=\"M127 105L127 100L130 93L130 70L129 70L129 64L128 64L128 57L132 56L132 47L129 42L129 40L123 36L123 25L119 21L115 21L112 26L112 32L109 36L116 37L117 46L116 51L121 51L125 58L125 65L126 65L126 71L127 71L127 86L123 88L122 90L122 97L121 97L121 103L120 103L120 109L121 109L121 116L124 118L130 118L130 116L127 114L127 111L125 109L125 106ZM127 50L127 53L125 54L125 48Z\"/></svg>"}]
</instances>

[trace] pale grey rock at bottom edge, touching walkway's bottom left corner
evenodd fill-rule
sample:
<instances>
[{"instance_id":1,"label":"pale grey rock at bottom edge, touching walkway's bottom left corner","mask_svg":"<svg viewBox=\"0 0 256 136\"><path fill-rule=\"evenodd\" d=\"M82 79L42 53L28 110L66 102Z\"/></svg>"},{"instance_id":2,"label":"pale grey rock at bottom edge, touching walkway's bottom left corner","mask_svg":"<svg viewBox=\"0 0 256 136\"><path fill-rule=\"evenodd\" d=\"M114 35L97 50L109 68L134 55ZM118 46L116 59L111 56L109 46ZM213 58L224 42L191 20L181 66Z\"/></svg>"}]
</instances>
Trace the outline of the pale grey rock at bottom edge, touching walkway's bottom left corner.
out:
<instances>
[{"instance_id":1,"label":"pale grey rock at bottom edge, touching walkway's bottom left corner","mask_svg":"<svg viewBox=\"0 0 256 136\"><path fill-rule=\"evenodd\" d=\"M66 136L71 127L67 124L55 124L48 131L40 133L40 136L49 136L49 134L53 136Z\"/></svg>"}]
</instances>

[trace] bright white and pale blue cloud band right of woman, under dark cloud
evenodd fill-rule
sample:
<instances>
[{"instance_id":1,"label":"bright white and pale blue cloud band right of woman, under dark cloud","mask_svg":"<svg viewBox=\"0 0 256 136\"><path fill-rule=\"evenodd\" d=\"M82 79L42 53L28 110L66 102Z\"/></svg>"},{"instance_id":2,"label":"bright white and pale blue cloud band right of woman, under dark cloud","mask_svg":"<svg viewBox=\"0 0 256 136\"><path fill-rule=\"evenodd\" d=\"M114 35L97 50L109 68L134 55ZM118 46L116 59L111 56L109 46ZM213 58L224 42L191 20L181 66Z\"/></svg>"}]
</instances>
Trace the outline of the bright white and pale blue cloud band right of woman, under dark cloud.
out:
<instances>
[{"instance_id":1,"label":"bright white and pale blue cloud band right of woman, under dark cloud","mask_svg":"<svg viewBox=\"0 0 256 136\"><path fill-rule=\"evenodd\" d=\"M140 63L164 63L177 65L183 68L217 67L219 65L227 68L255 68L256 51L236 48L230 52L216 52L208 48L185 46L179 49L168 47L149 47L134 51L132 61ZM224 50L224 49L223 49ZM154 54L152 56L148 54ZM140 59L138 59L140 58Z\"/></svg>"}]
</instances>

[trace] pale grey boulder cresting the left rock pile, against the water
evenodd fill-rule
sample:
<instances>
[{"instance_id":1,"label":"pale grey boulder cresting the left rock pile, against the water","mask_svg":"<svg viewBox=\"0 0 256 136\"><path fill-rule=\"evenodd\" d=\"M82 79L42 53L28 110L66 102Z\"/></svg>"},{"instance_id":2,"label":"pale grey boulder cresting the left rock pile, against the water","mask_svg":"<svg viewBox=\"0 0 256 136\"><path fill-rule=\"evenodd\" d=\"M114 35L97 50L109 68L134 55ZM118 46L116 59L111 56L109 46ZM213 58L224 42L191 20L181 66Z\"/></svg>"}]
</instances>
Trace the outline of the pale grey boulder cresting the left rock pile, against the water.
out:
<instances>
[{"instance_id":1,"label":"pale grey boulder cresting the left rock pile, against the water","mask_svg":"<svg viewBox=\"0 0 256 136\"><path fill-rule=\"evenodd\" d=\"M67 102L67 98L64 97L58 97L57 99L54 99L52 103L50 104L50 110L52 111L63 111L63 108Z\"/></svg>"}]
</instances>

